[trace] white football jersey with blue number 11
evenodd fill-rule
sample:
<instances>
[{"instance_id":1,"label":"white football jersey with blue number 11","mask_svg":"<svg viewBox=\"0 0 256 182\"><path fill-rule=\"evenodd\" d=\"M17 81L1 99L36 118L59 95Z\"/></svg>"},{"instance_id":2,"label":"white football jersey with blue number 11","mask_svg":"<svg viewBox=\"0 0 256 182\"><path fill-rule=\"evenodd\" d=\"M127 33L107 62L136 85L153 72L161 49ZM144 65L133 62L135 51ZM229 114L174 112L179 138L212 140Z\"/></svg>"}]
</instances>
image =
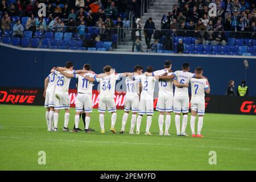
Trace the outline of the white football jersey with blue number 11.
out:
<instances>
[{"instance_id":1,"label":"white football jersey with blue number 11","mask_svg":"<svg viewBox=\"0 0 256 182\"><path fill-rule=\"evenodd\" d=\"M78 78L77 93L86 93L92 95L93 82L90 82L85 76L94 77L93 73L85 73L84 75L76 74Z\"/></svg>"}]
</instances>

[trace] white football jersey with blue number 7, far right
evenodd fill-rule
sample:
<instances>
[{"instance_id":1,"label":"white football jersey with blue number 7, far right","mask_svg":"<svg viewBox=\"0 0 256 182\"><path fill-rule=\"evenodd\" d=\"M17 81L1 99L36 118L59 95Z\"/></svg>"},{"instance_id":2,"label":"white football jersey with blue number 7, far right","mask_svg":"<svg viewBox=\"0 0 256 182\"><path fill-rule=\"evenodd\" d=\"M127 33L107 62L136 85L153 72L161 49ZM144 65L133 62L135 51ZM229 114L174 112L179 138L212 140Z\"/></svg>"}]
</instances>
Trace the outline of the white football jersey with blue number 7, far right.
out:
<instances>
[{"instance_id":1,"label":"white football jersey with blue number 7, far right","mask_svg":"<svg viewBox=\"0 0 256 182\"><path fill-rule=\"evenodd\" d=\"M204 104L205 90L209 89L209 84L205 78L191 78L191 102L195 104Z\"/></svg>"}]
</instances>

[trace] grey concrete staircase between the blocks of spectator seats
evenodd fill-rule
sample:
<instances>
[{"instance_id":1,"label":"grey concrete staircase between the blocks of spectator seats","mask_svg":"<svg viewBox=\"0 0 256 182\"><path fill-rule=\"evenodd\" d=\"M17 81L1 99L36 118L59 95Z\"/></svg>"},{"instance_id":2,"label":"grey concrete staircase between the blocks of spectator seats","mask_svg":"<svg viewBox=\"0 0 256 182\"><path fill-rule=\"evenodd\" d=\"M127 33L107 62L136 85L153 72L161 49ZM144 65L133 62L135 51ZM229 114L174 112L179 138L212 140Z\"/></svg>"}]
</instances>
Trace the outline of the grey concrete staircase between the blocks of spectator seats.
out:
<instances>
[{"instance_id":1,"label":"grey concrete staircase between the blocks of spectator seats","mask_svg":"<svg viewBox=\"0 0 256 182\"><path fill-rule=\"evenodd\" d=\"M178 0L155 0L154 3L151 3L150 9L147 10L147 13L144 13L141 18L142 28L146 23L148 18L152 18L153 22L155 23L156 28L161 28L161 19L164 14L167 14L168 11L172 11L172 7L178 4ZM143 31L142 33L142 47L143 51L146 50L146 42L144 39ZM151 39L151 43L154 42L154 39ZM133 46L133 42L131 41L131 31L127 32L125 41L118 43L118 48L113 49L113 51L119 52L131 52Z\"/></svg>"}]
</instances>

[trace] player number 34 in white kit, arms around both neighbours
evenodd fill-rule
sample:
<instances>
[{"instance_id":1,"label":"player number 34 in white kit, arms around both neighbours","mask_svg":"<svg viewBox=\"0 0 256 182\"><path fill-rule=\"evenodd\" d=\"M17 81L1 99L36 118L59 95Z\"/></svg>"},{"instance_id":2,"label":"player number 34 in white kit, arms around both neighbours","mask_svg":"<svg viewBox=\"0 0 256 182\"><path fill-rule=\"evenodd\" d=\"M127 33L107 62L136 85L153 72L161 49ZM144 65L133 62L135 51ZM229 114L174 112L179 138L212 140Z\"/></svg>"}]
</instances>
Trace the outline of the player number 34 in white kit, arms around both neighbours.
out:
<instances>
[{"instance_id":1,"label":"player number 34 in white kit, arms around both neighbours","mask_svg":"<svg viewBox=\"0 0 256 182\"><path fill-rule=\"evenodd\" d=\"M104 115L105 111L108 110L109 113L112 113L111 117L111 127L110 131L112 133L117 133L115 131L115 121L117 120L117 109L115 107L114 94L115 94L115 82L120 79L120 77L128 76L131 73L118 73L115 74L110 65L106 65L103 68L104 73L107 75L103 78L96 78L97 82L100 82L100 96L98 102L98 111L100 112L100 126L101 133L105 133L104 128ZM89 81L93 81L93 78L85 76Z\"/></svg>"}]
</instances>

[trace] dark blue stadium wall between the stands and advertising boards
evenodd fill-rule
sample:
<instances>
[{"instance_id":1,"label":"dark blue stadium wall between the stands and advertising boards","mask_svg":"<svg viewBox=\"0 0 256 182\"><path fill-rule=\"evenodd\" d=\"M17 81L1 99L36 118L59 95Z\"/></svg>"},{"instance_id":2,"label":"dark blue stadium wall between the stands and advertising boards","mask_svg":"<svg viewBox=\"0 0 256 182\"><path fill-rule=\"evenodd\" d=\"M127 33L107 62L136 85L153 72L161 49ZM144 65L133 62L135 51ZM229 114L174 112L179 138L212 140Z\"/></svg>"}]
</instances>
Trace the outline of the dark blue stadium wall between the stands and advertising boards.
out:
<instances>
[{"instance_id":1,"label":"dark blue stadium wall between the stands and advertising boards","mask_svg":"<svg viewBox=\"0 0 256 182\"><path fill-rule=\"evenodd\" d=\"M181 68L181 64L191 64L191 72L197 67L204 68L204 75L208 77L211 85L211 94L224 95L228 81L233 79L236 86L245 79L243 60L249 61L246 82L249 86L249 95L256 96L255 68L256 58L248 56L221 56L221 55L177 55L154 53L118 53L93 52L72 50L31 49L6 46L0 43L3 78L0 86L22 86L26 88L43 88L44 78L53 66L64 66L65 61L75 63L75 69L82 68L84 63L92 64L96 73L102 72L104 65L112 65L117 72L132 72L136 64L144 68L147 65L156 69L163 68L163 62L171 59L172 69ZM75 88L75 80L71 88Z\"/></svg>"}]
</instances>

